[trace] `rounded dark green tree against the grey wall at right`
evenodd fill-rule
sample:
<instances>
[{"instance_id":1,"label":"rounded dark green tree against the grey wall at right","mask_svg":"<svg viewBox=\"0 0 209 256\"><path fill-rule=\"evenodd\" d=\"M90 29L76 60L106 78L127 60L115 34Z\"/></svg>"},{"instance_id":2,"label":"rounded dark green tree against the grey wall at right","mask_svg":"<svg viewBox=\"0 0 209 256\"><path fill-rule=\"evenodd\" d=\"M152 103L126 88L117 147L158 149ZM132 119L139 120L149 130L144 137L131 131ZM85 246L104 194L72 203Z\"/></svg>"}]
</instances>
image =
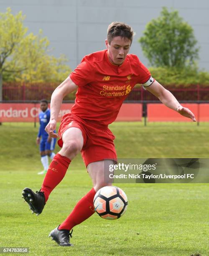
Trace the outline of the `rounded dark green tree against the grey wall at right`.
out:
<instances>
[{"instance_id":1,"label":"rounded dark green tree against the grey wall at right","mask_svg":"<svg viewBox=\"0 0 209 256\"><path fill-rule=\"evenodd\" d=\"M139 39L143 53L155 67L186 67L198 59L199 47L193 28L163 7L160 17L151 20Z\"/></svg>"}]
</instances>

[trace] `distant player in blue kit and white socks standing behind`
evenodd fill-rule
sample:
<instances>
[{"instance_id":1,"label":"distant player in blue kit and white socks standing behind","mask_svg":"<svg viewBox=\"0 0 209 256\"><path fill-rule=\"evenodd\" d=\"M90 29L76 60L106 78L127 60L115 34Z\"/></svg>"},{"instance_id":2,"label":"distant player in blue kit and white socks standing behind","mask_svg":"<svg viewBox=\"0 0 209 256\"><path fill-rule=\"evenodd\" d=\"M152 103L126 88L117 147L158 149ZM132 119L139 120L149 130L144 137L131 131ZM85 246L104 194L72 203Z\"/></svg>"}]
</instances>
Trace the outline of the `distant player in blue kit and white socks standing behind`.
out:
<instances>
[{"instance_id":1,"label":"distant player in blue kit and white socks standing behind","mask_svg":"<svg viewBox=\"0 0 209 256\"><path fill-rule=\"evenodd\" d=\"M38 136L36 138L36 143L40 145L40 155L41 163L43 165L43 171L38 172L38 174L46 174L48 169L48 156L51 160L54 158L55 154L53 152L56 138L51 138L48 136L48 133L45 131L46 125L50 120L50 109L48 108L48 101L40 101L41 112L39 113L39 122L40 127L38 131ZM55 131L56 132L56 131Z\"/></svg>"}]
</instances>

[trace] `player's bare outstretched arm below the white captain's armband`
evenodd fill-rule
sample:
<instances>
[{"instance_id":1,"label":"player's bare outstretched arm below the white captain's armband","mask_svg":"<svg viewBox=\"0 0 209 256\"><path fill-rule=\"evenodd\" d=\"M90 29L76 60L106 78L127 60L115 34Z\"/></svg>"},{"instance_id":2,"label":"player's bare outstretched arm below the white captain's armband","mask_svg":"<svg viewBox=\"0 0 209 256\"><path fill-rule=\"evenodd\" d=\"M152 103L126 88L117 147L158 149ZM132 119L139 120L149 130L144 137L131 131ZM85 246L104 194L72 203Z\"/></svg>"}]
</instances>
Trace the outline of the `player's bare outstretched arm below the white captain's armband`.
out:
<instances>
[{"instance_id":1,"label":"player's bare outstretched arm below the white captain's armband","mask_svg":"<svg viewBox=\"0 0 209 256\"><path fill-rule=\"evenodd\" d=\"M158 99L166 105L168 108L171 108L177 111L179 114L191 118L193 122L196 122L194 114L189 110L189 108L184 108L181 104L176 100L171 92L166 90L160 83L156 80L150 86L146 87L146 89L151 92L153 95L158 97Z\"/></svg>"}]
</instances>

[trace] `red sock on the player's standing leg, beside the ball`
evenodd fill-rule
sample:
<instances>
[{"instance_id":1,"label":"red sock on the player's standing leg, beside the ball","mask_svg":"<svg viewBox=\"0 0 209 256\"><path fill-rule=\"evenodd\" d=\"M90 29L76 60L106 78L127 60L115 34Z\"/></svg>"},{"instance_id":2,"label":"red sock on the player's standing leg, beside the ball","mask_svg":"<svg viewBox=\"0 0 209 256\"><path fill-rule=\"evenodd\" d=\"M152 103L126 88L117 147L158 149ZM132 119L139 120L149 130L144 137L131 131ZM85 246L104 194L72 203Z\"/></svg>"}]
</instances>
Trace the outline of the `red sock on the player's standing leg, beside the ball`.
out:
<instances>
[{"instance_id":1,"label":"red sock on the player's standing leg, beside the ball","mask_svg":"<svg viewBox=\"0 0 209 256\"><path fill-rule=\"evenodd\" d=\"M84 220L94 214L94 195L96 194L94 188L92 188L87 195L77 202L76 206L70 213L70 215L59 226L59 230L67 229L71 230L75 225L82 223Z\"/></svg>"}]
</instances>

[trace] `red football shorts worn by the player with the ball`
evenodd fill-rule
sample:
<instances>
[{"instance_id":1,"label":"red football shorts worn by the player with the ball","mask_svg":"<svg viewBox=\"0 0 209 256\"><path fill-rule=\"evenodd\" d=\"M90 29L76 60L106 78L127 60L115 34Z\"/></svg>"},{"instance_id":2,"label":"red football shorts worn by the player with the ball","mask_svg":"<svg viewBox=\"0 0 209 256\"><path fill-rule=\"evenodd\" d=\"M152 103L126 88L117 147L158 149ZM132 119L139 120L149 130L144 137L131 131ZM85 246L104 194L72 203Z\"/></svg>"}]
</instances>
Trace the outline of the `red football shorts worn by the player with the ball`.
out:
<instances>
[{"instance_id":1,"label":"red football shorts worn by the player with the ball","mask_svg":"<svg viewBox=\"0 0 209 256\"><path fill-rule=\"evenodd\" d=\"M96 121L83 120L71 113L65 114L59 126L58 145L63 146L62 135L71 128L76 127L82 131L84 145L81 150L82 158L86 166L92 162L104 159L117 161L117 154L113 140L115 136L106 126L101 126Z\"/></svg>"}]
</instances>

